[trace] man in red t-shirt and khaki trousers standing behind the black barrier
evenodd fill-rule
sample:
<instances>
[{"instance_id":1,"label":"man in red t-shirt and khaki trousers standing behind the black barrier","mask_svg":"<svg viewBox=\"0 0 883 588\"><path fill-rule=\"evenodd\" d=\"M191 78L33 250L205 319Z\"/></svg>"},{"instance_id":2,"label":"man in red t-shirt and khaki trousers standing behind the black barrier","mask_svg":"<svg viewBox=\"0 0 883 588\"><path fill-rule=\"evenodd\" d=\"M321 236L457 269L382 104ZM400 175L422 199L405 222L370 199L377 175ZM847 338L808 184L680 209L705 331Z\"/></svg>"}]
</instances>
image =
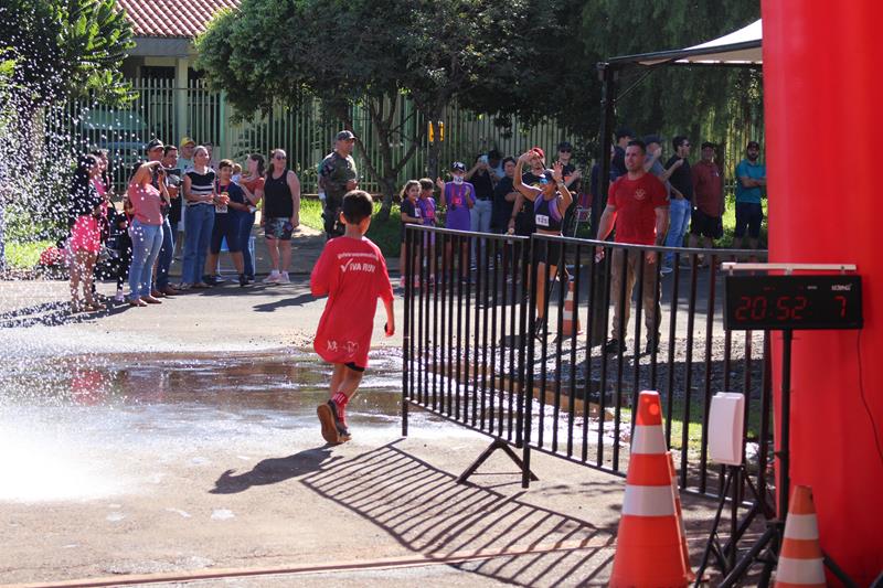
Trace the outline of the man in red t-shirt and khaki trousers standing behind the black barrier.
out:
<instances>
[{"instance_id":1,"label":"man in red t-shirt and khaki trousers standing behind the black barrier","mask_svg":"<svg viewBox=\"0 0 883 588\"><path fill-rule=\"evenodd\" d=\"M598 224L598 239L604 240L616 226L616 243L657 245L666 240L669 228L669 201L666 186L653 174L643 170L647 147L642 141L629 141L626 147L626 175L618 178L607 193L607 206ZM599 248L603 254L604 249ZM628 257L625 275L623 256ZM638 264L643 264L643 314L647 325L647 353L659 346L661 308L656 252L614 248L610 296L614 298L614 325L605 353L625 351L624 344L631 302L631 291L638 275ZM623 289L625 288L625 296ZM621 300L626 301L623 308ZM638 345L640 342L636 341Z\"/></svg>"}]
</instances>

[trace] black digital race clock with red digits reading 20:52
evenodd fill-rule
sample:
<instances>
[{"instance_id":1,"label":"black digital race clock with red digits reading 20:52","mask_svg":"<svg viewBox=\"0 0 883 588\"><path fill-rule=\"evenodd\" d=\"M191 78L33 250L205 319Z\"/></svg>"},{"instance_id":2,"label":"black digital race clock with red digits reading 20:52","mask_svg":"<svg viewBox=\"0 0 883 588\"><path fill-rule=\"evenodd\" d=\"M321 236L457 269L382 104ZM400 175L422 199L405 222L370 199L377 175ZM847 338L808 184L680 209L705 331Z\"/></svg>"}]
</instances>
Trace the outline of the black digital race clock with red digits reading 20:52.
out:
<instances>
[{"instance_id":1,"label":"black digital race clock with red digits reading 20:52","mask_svg":"<svg viewBox=\"0 0 883 588\"><path fill-rule=\"evenodd\" d=\"M861 276L726 276L732 331L861 329Z\"/></svg>"}]
</instances>

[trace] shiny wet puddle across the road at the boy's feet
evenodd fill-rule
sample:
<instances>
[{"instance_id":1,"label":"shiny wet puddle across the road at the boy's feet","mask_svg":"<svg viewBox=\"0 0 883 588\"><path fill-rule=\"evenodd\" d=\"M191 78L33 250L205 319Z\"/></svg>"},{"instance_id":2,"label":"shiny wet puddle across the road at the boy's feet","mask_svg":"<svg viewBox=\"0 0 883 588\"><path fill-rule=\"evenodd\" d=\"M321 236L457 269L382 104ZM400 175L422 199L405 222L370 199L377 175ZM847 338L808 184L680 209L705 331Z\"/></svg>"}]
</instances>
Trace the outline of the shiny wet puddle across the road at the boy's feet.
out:
<instances>
[{"instance_id":1,"label":"shiny wet puddle across the road at the boy's feet","mask_svg":"<svg viewBox=\"0 0 883 588\"><path fill-rule=\"evenodd\" d=\"M331 370L307 352L58 357L0 365L0 502L100 499L163 483L166 466L243 464L322 443ZM401 359L371 355L348 407L360 439L401 427ZM440 427L426 414L414 415Z\"/></svg>"}]
</instances>

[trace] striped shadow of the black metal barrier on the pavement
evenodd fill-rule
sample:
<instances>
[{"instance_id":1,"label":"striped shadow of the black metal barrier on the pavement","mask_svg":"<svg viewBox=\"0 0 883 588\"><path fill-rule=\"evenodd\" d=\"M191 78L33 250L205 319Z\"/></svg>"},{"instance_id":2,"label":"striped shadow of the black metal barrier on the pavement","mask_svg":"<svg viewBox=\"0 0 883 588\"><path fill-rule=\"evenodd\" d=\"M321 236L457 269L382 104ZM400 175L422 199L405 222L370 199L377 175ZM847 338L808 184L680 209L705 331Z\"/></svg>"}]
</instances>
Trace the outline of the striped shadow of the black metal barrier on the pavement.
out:
<instances>
[{"instance_id":1,"label":"striped shadow of the black metal barrier on the pavement","mask_svg":"<svg viewBox=\"0 0 883 588\"><path fill-rule=\"evenodd\" d=\"M323 467L301 482L440 563L494 554L449 564L465 571L521 586L589 585L609 574L614 528L530 504L522 492L458 484L394 443Z\"/></svg>"}]
</instances>

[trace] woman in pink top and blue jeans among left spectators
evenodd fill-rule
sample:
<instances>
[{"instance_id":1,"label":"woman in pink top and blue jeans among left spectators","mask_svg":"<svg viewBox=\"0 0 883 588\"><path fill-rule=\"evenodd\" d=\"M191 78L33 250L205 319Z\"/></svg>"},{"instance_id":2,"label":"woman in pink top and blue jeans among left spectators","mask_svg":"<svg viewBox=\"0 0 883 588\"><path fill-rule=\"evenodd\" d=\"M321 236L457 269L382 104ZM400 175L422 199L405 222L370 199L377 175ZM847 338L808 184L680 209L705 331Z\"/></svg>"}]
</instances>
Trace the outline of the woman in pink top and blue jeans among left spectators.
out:
<instances>
[{"instance_id":1,"label":"woman in pink top and blue jeans among left spectators","mask_svg":"<svg viewBox=\"0 0 883 588\"><path fill-rule=\"evenodd\" d=\"M129 268L129 304L146 307L161 304L150 296L150 280L153 263L162 248L162 196L150 183L153 172L159 171L160 181L163 171L159 161L142 163L129 182L128 196L134 217L129 225L131 237L131 267Z\"/></svg>"}]
</instances>

